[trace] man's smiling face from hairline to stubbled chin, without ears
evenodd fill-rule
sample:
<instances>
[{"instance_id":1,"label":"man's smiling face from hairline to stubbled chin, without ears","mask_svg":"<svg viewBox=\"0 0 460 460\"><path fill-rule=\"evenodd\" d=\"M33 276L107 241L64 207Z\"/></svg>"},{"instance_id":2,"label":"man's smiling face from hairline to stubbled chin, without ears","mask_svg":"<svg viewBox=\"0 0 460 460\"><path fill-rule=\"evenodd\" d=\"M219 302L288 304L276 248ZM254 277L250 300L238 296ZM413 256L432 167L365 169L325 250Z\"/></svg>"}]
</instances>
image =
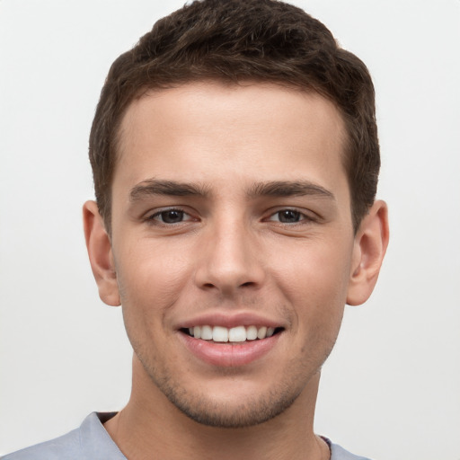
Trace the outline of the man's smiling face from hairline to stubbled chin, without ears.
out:
<instances>
[{"instance_id":1,"label":"man's smiling face from hairline to stubbled chin, without ears","mask_svg":"<svg viewBox=\"0 0 460 460\"><path fill-rule=\"evenodd\" d=\"M331 102L274 84L131 104L111 258L135 382L221 427L311 393L357 263L343 139Z\"/></svg>"}]
</instances>

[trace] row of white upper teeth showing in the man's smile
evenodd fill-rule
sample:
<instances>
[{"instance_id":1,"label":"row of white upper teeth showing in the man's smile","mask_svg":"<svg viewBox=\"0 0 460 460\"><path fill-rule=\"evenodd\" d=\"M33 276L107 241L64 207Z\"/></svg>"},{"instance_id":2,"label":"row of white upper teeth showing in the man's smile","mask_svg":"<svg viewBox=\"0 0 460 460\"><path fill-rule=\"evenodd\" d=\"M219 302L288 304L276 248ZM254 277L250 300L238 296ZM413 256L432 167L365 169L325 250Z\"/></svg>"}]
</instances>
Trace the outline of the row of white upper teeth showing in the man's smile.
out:
<instances>
[{"instance_id":1,"label":"row of white upper teeth showing in the man's smile","mask_svg":"<svg viewBox=\"0 0 460 460\"><path fill-rule=\"evenodd\" d=\"M236 326L233 328L226 328L222 326L194 326L189 328L190 335L195 339L202 339L203 341L217 341L217 342L242 342L242 341L255 341L256 339L265 339L271 337L274 332L274 327L266 326Z\"/></svg>"}]
</instances>

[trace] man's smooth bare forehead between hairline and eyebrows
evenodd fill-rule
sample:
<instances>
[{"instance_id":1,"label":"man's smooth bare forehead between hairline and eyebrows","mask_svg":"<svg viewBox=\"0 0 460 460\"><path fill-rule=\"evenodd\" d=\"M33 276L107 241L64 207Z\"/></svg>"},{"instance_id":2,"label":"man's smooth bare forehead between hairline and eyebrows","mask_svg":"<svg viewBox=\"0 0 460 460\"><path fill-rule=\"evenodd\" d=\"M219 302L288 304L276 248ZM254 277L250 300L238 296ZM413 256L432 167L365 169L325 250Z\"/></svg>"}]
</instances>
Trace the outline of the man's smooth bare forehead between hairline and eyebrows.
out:
<instances>
[{"instance_id":1,"label":"man's smooth bare forehead between hairline and eyebrows","mask_svg":"<svg viewBox=\"0 0 460 460\"><path fill-rule=\"evenodd\" d=\"M308 180L333 181L345 177L344 137L339 111L317 93L279 84L184 84L130 104L114 181L296 180L299 170Z\"/></svg>"}]
</instances>

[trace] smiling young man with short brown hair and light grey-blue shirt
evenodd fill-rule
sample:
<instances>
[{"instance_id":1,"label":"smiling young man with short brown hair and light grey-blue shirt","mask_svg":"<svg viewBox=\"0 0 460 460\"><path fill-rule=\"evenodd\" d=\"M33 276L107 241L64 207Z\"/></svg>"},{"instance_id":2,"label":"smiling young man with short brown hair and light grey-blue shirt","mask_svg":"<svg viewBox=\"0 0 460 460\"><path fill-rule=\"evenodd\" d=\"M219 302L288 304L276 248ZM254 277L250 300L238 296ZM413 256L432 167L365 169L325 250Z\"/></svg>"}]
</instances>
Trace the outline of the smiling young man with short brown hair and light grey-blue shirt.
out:
<instances>
[{"instance_id":1,"label":"smiling young man with short brown hair and light grey-blue shirt","mask_svg":"<svg viewBox=\"0 0 460 460\"><path fill-rule=\"evenodd\" d=\"M131 397L4 458L358 458L313 430L344 305L388 243L358 57L292 5L186 5L111 66L90 159L84 232Z\"/></svg>"}]
</instances>

